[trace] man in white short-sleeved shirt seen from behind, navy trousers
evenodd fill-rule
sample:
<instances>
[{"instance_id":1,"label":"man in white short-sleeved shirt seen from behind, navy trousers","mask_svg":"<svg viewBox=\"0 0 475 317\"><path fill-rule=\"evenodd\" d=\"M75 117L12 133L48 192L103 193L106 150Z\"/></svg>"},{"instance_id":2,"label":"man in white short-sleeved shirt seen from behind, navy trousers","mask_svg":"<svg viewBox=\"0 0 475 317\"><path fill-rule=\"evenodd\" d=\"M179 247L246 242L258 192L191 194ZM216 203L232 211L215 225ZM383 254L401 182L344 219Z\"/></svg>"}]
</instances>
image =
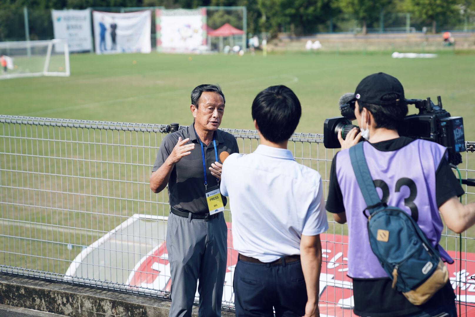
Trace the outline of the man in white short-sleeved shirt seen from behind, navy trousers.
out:
<instances>
[{"instance_id":1,"label":"man in white short-sleeved shirt seen from behind, navy trousers","mask_svg":"<svg viewBox=\"0 0 475 317\"><path fill-rule=\"evenodd\" d=\"M283 85L260 92L252 118L256 151L223 163L221 194L229 196L233 244L239 252L236 316L319 316L320 233L328 229L320 174L287 150L301 116Z\"/></svg>"}]
</instances>

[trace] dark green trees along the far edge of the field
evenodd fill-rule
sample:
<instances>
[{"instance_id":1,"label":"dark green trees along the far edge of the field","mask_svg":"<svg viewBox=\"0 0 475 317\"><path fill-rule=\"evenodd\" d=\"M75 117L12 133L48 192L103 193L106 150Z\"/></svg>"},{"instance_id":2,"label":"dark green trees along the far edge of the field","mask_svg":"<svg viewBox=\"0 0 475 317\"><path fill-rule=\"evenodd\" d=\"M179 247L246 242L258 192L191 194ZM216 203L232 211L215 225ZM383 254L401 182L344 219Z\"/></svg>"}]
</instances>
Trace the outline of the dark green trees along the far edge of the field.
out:
<instances>
[{"instance_id":1,"label":"dark green trees along the far edge of the field","mask_svg":"<svg viewBox=\"0 0 475 317\"><path fill-rule=\"evenodd\" d=\"M342 13L357 19L363 34L367 28L378 27L385 13L411 12L421 25L431 26L434 33L437 24L456 23L454 21L475 15L475 0L1 0L0 40L24 38L22 10L25 6L32 39L47 37L52 32L50 9L65 8L245 6L249 33L276 35L286 31L297 36L328 31L329 21ZM223 13L212 19L215 22L212 24L230 18L236 19Z\"/></svg>"}]
</instances>

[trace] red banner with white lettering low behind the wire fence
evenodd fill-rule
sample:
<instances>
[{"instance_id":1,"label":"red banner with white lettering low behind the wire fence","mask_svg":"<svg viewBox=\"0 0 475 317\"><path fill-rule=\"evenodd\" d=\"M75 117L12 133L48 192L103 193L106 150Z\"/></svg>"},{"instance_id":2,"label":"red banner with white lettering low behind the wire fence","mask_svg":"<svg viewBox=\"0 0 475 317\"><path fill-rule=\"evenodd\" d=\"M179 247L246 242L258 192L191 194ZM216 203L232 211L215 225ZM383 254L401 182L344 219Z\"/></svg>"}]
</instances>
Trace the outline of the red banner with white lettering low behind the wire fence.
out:
<instances>
[{"instance_id":1,"label":"red banner with white lettering low behind the wire fence","mask_svg":"<svg viewBox=\"0 0 475 317\"><path fill-rule=\"evenodd\" d=\"M231 224L228 223L228 228ZM320 316L356 316L353 308L353 286L346 275L348 237L345 235L321 234L322 240L322 272L320 274ZM458 258L454 251L448 251L451 257ZM475 316L475 281L470 277L475 273L475 253L462 253L462 270L459 262L447 265L452 288L461 291L462 315ZM170 264L165 242L151 250L136 265L126 284L133 288L148 288L169 291L171 286ZM231 234L228 234L228 268L226 270L223 301L230 306L234 303L232 288L234 268L237 263L237 252L232 249ZM458 282L461 279L461 282ZM466 283L466 282L470 282ZM196 293L198 296L198 291ZM458 302L457 302L458 304ZM458 310L458 306L457 306Z\"/></svg>"}]
</instances>

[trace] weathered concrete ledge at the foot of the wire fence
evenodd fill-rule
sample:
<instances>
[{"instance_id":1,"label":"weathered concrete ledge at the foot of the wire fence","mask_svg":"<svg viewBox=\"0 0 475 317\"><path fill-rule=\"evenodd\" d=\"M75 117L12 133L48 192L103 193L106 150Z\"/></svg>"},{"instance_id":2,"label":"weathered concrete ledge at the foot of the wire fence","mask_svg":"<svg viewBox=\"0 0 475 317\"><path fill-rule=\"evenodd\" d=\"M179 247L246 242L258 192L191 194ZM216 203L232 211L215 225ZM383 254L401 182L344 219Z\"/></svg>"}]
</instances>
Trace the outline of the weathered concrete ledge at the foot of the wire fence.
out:
<instances>
[{"instance_id":1,"label":"weathered concrete ledge at the foot of the wire fence","mask_svg":"<svg viewBox=\"0 0 475 317\"><path fill-rule=\"evenodd\" d=\"M171 301L0 274L0 304L71 317L168 317Z\"/></svg>"}]
</instances>

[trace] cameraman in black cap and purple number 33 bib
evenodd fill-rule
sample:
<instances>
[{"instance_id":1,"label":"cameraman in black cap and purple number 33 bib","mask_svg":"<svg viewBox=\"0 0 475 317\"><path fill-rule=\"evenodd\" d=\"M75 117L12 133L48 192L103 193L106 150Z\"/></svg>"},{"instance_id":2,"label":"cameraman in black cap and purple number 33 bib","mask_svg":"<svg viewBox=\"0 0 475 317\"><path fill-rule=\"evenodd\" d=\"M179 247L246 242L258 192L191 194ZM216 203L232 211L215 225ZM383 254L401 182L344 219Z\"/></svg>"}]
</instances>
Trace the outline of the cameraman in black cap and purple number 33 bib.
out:
<instances>
[{"instance_id":1,"label":"cameraman in black cap and purple number 33 bib","mask_svg":"<svg viewBox=\"0 0 475 317\"><path fill-rule=\"evenodd\" d=\"M384 73L369 75L358 84L353 100L361 131L355 127L343 140L344 128L338 130L342 151L333 158L326 209L338 223L348 221L348 276L353 280L354 313L371 317L456 316L450 281L418 306L391 286L391 278L371 249L368 217L362 211L372 206L363 199L349 148L361 138L368 141L363 144L364 158L383 205L408 213L443 261L453 263L438 245L444 228L440 214L449 229L461 233L475 224L475 204L462 205L457 199L464 190L450 168L445 147L399 136L408 106L398 79Z\"/></svg>"}]
</instances>

